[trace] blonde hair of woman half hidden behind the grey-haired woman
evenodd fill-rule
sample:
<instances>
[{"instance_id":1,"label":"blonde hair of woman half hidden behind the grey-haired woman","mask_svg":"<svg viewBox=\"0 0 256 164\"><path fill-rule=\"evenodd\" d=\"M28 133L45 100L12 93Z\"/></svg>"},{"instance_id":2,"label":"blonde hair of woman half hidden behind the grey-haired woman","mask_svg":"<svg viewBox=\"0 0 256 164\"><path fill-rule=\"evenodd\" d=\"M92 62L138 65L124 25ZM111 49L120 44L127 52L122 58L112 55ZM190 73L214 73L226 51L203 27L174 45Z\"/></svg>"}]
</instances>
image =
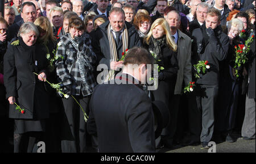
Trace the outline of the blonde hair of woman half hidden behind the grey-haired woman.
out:
<instances>
[{"instance_id":1,"label":"blonde hair of woman half hidden behind the grey-haired woman","mask_svg":"<svg viewBox=\"0 0 256 164\"><path fill-rule=\"evenodd\" d=\"M40 16L36 18L34 22L35 26L38 27L38 31L41 32L42 30L46 31L46 35L39 38L44 44L47 44L49 40L56 41L56 37L53 35L52 26L49 22L48 18L45 16Z\"/></svg>"}]
</instances>

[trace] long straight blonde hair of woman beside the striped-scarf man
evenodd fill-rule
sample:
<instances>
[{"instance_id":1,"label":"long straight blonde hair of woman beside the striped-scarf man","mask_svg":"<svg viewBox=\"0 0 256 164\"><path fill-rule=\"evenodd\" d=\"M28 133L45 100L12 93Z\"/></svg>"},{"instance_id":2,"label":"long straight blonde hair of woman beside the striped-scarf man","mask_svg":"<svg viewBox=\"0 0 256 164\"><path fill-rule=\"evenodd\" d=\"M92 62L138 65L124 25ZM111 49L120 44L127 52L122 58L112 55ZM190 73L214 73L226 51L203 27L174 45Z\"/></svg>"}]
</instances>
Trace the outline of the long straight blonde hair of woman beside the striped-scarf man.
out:
<instances>
[{"instance_id":1,"label":"long straight blonde hair of woman beside the striped-scarf man","mask_svg":"<svg viewBox=\"0 0 256 164\"><path fill-rule=\"evenodd\" d=\"M156 26L159 26L159 25L163 27L163 30L164 30L165 35L166 35L166 43L167 43L168 47L171 48L172 51L176 51L177 50L177 44L175 43L174 39L172 39L169 24L167 23L166 19L164 19L164 18L158 18L158 19L155 20L155 22L152 24L152 26L150 28L150 31L148 32L148 34L144 38L144 42L149 44L150 37L152 36L153 29Z\"/></svg>"}]
</instances>

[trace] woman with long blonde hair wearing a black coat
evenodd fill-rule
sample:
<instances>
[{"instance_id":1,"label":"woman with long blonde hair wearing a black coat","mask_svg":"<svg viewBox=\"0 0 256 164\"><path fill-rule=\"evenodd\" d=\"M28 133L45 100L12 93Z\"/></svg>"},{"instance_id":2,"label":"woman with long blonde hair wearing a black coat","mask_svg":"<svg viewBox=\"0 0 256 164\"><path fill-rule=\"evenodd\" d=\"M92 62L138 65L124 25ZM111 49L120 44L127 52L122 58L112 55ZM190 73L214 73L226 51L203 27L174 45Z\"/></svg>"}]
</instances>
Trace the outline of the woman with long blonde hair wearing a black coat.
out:
<instances>
[{"instance_id":1,"label":"woman with long blonde hair wearing a black coat","mask_svg":"<svg viewBox=\"0 0 256 164\"><path fill-rule=\"evenodd\" d=\"M144 38L144 46L154 54L156 64L164 69L158 72L158 89L152 91L155 100L161 100L168 106L170 95L174 92L177 64L177 45L171 38L170 28L164 18L156 19L150 32Z\"/></svg>"}]
</instances>

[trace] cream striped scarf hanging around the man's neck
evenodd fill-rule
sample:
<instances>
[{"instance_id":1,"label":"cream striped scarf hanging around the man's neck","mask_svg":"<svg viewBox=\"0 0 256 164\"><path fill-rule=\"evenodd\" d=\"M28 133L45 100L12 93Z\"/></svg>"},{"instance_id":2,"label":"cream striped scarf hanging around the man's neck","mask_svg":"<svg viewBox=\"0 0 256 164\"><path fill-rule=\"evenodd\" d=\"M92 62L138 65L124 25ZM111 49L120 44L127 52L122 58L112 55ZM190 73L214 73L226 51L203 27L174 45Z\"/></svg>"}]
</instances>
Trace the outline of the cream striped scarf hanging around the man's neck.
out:
<instances>
[{"instance_id":1,"label":"cream striped scarf hanging around the man's neck","mask_svg":"<svg viewBox=\"0 0 256 164\"><path fill-rule=\"evenodd\" d=\"M118 61L117 58L117 46L115 45L115 40L113 37L112 32L110 31L110 23L108 26L108 38L109 38L109 48L110 48L110 61ZM123 42L123 52L128 48L128 30L125 24L125 29L122 32L122 42ZM109 70L108 77L106 78L105 82L114 79L115 70Z\"/></svg>"}]
</instances>

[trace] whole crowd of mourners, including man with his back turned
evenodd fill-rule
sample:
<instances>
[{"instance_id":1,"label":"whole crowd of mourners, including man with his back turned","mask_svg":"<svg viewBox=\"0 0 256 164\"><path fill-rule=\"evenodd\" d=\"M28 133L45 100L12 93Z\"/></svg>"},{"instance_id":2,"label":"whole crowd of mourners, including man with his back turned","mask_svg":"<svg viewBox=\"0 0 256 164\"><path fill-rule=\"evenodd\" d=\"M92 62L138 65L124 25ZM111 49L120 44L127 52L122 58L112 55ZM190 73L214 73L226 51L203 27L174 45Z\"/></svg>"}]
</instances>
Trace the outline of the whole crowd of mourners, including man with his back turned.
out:
<instances>
[{"instance_id":1,"label":"whole crowd of mourners, including man with his back turned","mask_svg":"<svg viewBox=\"0 0 256 164\"><path fill-rule=\"evenodd\" d=\"M0 152L37 152L39 141L85 153L255 139L255 0L5 0L4 10ZM102 85L121 70L144 82L149 68L137 76L127 64L153 63L155 90ZM156 134L148 102L158 101L170 118Z\"/></svg>"}]
</instances>

